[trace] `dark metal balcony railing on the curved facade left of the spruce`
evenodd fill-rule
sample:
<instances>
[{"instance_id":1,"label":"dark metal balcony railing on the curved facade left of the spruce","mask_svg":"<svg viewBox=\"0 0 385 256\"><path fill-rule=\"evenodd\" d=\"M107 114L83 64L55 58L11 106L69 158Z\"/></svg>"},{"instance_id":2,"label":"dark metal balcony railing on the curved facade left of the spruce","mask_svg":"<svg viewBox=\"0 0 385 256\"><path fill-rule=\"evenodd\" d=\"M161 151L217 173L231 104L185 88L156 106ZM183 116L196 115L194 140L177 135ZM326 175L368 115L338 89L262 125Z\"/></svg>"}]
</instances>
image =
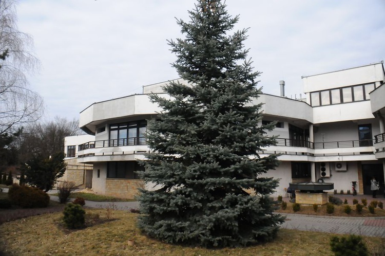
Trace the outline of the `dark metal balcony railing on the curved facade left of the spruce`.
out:
<instances>
[{"instance_id":1,"label":"dark metal balcony railing on the curved facade left of the spruce","mask_svg":"<svg viewBox=\"0 0 385 256\"><path fill-rule=\"evenodd\" d=\"M143 138L143 137L97 140L97 141L89 141L79 145L79 151L86 150L86 149L95 149L95 148L136 146L136 145L145 145L145 144L146 144L146 138Z\"/></svg>"}]
</instances>

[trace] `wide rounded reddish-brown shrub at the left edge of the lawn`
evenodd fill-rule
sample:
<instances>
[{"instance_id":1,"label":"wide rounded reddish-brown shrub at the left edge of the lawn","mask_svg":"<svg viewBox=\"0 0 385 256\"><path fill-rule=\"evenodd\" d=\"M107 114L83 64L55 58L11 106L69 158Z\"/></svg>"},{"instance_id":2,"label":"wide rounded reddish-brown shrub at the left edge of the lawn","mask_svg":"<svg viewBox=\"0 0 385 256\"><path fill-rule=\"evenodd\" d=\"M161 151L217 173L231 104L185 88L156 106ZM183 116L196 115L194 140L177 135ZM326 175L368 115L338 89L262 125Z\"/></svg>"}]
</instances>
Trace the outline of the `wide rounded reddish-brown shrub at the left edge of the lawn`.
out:
<instances>
[{"instance_id":1,"label":"wide rounded reddish-brown shrub at the left edge of the lawn","mask_svg":"<svg viewBox=\"0 0 385 256\"><path fill-rule=\"evenodd\" d=\"M8 191L11 203L23 208L43 208L49 204L49 195L38 188L13 184Z\"/></svg>"}]
</instances>

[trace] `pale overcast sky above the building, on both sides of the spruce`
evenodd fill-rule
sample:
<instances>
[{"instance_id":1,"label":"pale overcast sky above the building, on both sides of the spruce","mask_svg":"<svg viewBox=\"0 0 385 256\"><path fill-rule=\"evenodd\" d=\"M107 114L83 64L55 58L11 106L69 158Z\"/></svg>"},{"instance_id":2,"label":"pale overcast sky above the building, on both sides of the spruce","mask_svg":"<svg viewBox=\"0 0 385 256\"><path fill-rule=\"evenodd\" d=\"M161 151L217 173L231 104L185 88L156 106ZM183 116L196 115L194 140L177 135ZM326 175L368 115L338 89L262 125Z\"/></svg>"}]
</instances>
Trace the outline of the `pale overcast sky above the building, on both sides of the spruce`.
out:
<instances>
[{"instance_id":1,"label":"pale overcast sky above the building, on both sides of the spruce","mask_svg":"<svg viewBox=\"0 0 385 256\"><path fill-rule=\"evenodd\" d=\"M169 39L184 38L196 0L19 0L18 28L34 39L42 63L30 86L45 118L79 118L93 102L140 94L178 78ZM385 60L384 0L227 0L249 28L246 48L260 86L303 96L301 76Z\"/></svg>"}]
</instances>

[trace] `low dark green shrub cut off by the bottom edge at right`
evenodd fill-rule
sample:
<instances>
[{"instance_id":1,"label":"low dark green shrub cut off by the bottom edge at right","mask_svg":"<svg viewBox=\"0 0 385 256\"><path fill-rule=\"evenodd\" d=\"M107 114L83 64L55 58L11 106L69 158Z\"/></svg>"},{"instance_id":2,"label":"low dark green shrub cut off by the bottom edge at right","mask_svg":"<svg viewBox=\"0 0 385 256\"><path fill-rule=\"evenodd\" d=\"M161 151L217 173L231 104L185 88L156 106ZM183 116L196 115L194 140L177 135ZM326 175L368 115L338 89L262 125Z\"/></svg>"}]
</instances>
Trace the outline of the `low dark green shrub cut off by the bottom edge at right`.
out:
<instances>
[{"instance_id":1,"label":"low dark green shrub cut off by the bottom edge at right","mask_svg":"<svg viewBox=\"0 0 385 256\"><path fill-rule=\"evenodd\" d=\"M362 237L359 235L349 236L332 236L330 239L330 246L335 255L351 255L362 256L368 255L369 251L366 244L362 241Z\"/></svg>"}]
</instances>

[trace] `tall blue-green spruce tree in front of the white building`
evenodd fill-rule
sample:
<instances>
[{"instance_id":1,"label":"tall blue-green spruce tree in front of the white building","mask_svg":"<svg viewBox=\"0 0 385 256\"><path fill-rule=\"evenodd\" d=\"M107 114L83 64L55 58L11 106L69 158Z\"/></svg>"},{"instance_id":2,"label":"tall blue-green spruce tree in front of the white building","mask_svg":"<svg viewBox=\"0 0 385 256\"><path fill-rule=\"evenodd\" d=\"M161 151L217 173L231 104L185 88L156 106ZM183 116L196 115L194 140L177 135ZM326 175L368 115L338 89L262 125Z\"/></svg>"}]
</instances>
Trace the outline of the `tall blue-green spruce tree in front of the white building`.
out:
<instances>
[{"instance_id":1,"label":"tall blue-green spruce tree in front of the white building","mask_svg":"<svg viewBox=\"0 0 385 256\"><path fill-rule=\"evenodd\" d=\"M243 49L246 29L220 0L201 0L178 24L184 40L169 41L173 66L189 85L170 82L170 98L151 95L163 109L148 125L151 148L145 172L152 190L140 189L138 225L168 243L205 247L246 246L271 240L284 217L271 193L278 180L259 177L278 166L276 155L257 152L275 143L253 104L259 72ZM246 190L253 191L251 195Z\"/></svg>"}]
</instances>

